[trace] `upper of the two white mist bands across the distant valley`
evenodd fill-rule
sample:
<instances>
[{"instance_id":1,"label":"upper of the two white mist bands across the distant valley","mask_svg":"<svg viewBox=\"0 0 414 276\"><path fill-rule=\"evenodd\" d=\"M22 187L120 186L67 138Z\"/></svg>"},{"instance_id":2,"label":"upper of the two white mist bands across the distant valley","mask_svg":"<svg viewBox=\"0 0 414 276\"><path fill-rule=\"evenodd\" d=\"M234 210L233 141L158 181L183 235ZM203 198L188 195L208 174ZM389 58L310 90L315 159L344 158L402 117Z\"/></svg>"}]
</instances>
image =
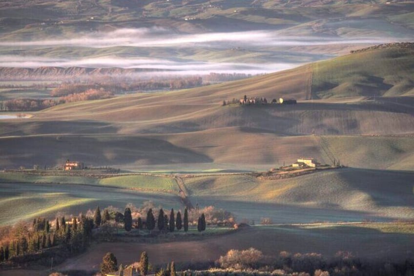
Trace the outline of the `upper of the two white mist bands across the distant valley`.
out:
<instances>
[{"instance_id":1,"label":"upper of the two white mist bands across the distant valley","mask_svg":"<svg viewBox=\"0 0 414 276\"><path fill-rule=\"evenodd\" d=\"M178 34L164 28L119 29L111 32L93 32L73 39L34 40L0 42L0 46L82 46L82 47L165 47L188 45L228 46L239 43L241 46L304 46L323 44L378 43L386 39L367 37L355 39L326 37L281 36L276 31L257 30L245 32L214 32L202 34ZM390 39L388 39L390 40Z\"/></svg>"}]
</instances>

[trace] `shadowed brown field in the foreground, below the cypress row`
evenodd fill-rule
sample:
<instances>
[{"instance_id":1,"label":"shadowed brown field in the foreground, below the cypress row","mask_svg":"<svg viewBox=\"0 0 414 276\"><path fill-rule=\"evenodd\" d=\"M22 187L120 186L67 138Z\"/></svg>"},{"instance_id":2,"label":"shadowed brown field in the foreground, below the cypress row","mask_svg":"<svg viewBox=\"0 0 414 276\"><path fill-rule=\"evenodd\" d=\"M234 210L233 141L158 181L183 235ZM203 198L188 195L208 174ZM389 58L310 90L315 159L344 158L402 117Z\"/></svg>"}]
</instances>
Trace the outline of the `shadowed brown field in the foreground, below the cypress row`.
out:
<instances>
[{"instance_id":1,"label":"shadowed brown field in the foreground, below the cypress row","mask_svg":"<svg viewBox=\"0 0 414 276\"><path fill-rule=\"evenodd\" d=\"M295 242L292 242L295 241ZM146 251L153 265L165 265L174 260L180 264L209 262L225 255L230 249L254 247L266 255L278 255L280 251L291 253L316 252L327 257L339 249L352 252L365 259L398 260L411 254L414 245L412 234L383 233L377 229L353 225L251 227L234 234L206 237L192 241L163 243L120 242L95 244L85 254L72 258L59 270L97 270L102 256L111 251L118 262L124 264L138 260ZM361 249L363 243L364 249ZM180 252L180 254L176 254ZM171 257L173 256L173 257Z\"/></svg>"}]
</instances>

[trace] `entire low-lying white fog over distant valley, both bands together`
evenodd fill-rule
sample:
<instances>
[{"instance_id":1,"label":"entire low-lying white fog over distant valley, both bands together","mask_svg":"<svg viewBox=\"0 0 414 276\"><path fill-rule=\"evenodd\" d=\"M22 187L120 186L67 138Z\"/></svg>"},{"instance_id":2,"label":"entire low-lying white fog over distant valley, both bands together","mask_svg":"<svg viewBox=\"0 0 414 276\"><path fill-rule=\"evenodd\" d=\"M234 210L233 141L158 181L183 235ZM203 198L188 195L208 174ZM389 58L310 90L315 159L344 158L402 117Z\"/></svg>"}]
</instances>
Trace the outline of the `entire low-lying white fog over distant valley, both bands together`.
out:
<instances>
[{"instance_id":1,"label":"entire low-lying white fog over distant valley, both bands together","mask_svg":"<svg viewBox=\"0 0 414 276\"><path fill-rule=\"evenodd\" d=\"M302 59L288 54L284 56L283 51L275 50L278 47L331 44L366 45L383 42L389 41L378 38L287 37L280 36L273 31L177 34L163 28L120 29L106 33L83 34L72 39L0 42L2 53L0 55L0 66L156 68L174 71L174 74L186 75L208 74L210 72L261 74L285 70L317 59L328 58L327 56L323 57L323 55L313 57L309 54L308 57ZM139 50L131 50L136 48L128 47L128 49L122 51L122 54L119 54L117 49L108 48L115 46L145 48L143 51L145 54L137 54L137 52L140 52ZM75 53L84 49L79 47L88 47L90 56L68 58L70 51L69 54L68 52L62 54L59 50L53 51L53 47L78 47L78 50L73 50ZM48 50L44 50L45 48ZM102 51L103 48L105 48L104 51ZM186 54L183 48L191 49L191 51ZM160 51L160 49L165 49L165 51ZM203 49L203 53L198 54L197 49ZM206 49L208 54L206 54ZM229 49L235 49L236 51L248 49L247 57L239 52L230 62L214 61L220 60L220 58L214 56L215 53L220 54L220 51ZM49 54L48 51L52 51L52 53ZM178 54L178 51L180 51L180 54ZM30 54L33 52L41 53L41 56ZM306 53L302 54L307 55ZM82 54L80 55L82 56ZM243 56L241 60L238 60L239 55ZM221 56L221 60L225 60L225 57Z\"/></svg>"}]
</instances>

